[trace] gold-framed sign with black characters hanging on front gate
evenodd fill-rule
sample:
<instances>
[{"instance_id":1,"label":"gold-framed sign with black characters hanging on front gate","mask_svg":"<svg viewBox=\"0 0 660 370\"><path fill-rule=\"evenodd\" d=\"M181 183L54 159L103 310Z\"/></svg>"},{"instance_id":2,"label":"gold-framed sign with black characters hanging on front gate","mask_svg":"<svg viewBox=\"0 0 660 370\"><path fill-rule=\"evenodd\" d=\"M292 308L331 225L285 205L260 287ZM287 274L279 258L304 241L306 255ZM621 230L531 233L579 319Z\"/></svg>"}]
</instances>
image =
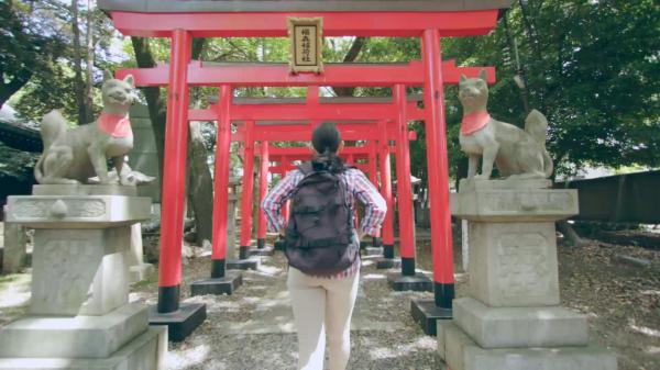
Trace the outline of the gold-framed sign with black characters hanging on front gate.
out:
<instances>
[{"instance_id":1,"label":"gold-framed sign with black characters hanging on front gate","mask_svg":"<svg viewBox=\"0 0 660 370\"><path fill-rule=\"evenodd\" d=\"M289 18L289 70L292 74L323 71L323 19Z\"/></svg>"}]
</instances>

